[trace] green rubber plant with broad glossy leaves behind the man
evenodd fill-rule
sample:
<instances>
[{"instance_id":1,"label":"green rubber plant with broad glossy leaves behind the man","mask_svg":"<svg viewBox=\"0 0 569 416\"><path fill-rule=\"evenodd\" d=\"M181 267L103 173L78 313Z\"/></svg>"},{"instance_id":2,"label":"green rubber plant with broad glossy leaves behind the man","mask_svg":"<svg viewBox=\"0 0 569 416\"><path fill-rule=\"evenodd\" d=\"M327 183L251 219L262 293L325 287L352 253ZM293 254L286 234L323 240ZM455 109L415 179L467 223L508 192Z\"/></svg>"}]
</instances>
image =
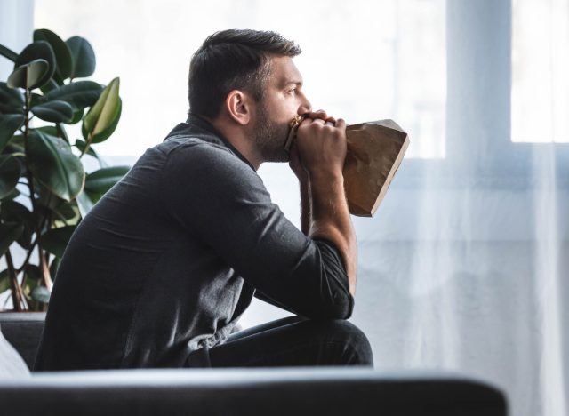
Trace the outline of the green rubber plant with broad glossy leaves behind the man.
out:
<instances>
[{"instance_id":1,"label":"green rubber plant with broad glossy leaves behind the man","mask_svg":"<svg viewBox=\"0 0 569 416\"><path fill-rule=\"evenodd\" d=\"M20 54L0 44L14 62L0 82L0 293L11 292L13 311L45 310L71 234L129 169L108 167L93 148L120 119L119 79L83 79L95 69L83 37L38 29L33 40ZM83 138L70 140L66 125L79 123ZM85 174L84 156L100 169ZM24 252L19 264L14 250Z\"/></svg>"}]
</instances>

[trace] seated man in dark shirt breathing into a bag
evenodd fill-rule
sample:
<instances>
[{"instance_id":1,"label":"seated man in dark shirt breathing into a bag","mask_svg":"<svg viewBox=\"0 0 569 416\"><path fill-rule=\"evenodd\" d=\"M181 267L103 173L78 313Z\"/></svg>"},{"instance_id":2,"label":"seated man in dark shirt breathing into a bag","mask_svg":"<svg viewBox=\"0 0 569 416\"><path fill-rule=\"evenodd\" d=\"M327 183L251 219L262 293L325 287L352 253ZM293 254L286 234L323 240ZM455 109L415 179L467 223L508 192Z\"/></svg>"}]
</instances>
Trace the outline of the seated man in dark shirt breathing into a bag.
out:
<instances>
[{"instance_id":1,"label":"seated man in dark shirt breathing into a bag","mask_svg":"<svg viewBox=\"0 0 569 416\"><path fill-rule=\"evenodd\" d=\"M188 121L149 148L69 241L36 370L372 365L345 321L356 237L344 196L345 122L313 112L274 32L208 37L189 69ZM305 116L290 155L289 123ZM302 232L257 169L289 161ZM253 294L295 316L233 332Z\"/></svg>"}]
</instances>

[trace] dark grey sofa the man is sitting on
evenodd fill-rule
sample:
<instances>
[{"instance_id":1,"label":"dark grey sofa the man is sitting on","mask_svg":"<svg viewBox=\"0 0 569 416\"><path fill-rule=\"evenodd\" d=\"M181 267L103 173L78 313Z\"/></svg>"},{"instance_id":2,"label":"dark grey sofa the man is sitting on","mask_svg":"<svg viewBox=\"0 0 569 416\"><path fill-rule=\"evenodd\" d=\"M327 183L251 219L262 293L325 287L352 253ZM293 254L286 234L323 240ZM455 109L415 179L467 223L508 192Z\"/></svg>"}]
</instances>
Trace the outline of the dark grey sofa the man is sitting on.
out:
<instances>
[{"instance_id":1,"label":"dark grey sofa the man is sitting on","mask_svg":"<svg viewBox=\"0 0 569 416\"><path fill-rule=\"evenodd\" d=\"M0 314L33 363L44 314ZM502 416L501 391L448 372L357 368L44 372L3 378L0 414Z\"/></svg>"}]
</instances>

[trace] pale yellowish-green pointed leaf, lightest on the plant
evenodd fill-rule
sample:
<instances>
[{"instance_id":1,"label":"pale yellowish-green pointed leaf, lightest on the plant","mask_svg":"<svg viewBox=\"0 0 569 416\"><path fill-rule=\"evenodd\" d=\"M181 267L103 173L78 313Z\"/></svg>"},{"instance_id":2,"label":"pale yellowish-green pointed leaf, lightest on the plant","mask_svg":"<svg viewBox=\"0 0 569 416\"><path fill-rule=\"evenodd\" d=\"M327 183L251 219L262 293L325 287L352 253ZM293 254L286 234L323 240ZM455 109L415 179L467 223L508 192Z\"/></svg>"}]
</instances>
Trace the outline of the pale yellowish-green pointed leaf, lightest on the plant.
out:
<instances>
[{"instance_id":1,"label":"pale yellowish-green pointed leaf, lightest on the plant","mask_svg":"<svg viewBox=\"0 0 569 416\"><path fill-rule=\"evenodd\" d=\"M84 117L82 132L87 143L99 143L115 131L122 107L118 96L119 86L119 78L113 79Z\"/></svg>"}]
</instances>

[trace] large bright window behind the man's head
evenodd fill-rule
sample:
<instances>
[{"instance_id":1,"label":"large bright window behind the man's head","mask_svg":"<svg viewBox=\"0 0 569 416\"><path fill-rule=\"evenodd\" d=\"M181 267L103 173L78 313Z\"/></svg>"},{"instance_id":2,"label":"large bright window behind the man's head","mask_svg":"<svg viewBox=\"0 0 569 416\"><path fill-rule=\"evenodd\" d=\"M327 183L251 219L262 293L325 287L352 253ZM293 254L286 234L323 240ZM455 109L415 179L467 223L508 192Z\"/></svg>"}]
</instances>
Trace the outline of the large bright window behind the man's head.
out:
<instances>
[{"instance_id":1,"label":"large bright window behind the man's head","mask_svg":"<svg viewBox=\"0 0 569 416\"><path fill-rule=\"evenodd\" d=\"M223 28L272 29L301 44L297 65L316 108L349 123L393 118L407 156L445 156L445 1L36 0L36 28L84 36L93 79L121 77L123 116L103 155L139 156L185 120L190 54ZM77 134L79 132L77 131Z\"/></svg>"}]
</instances>

